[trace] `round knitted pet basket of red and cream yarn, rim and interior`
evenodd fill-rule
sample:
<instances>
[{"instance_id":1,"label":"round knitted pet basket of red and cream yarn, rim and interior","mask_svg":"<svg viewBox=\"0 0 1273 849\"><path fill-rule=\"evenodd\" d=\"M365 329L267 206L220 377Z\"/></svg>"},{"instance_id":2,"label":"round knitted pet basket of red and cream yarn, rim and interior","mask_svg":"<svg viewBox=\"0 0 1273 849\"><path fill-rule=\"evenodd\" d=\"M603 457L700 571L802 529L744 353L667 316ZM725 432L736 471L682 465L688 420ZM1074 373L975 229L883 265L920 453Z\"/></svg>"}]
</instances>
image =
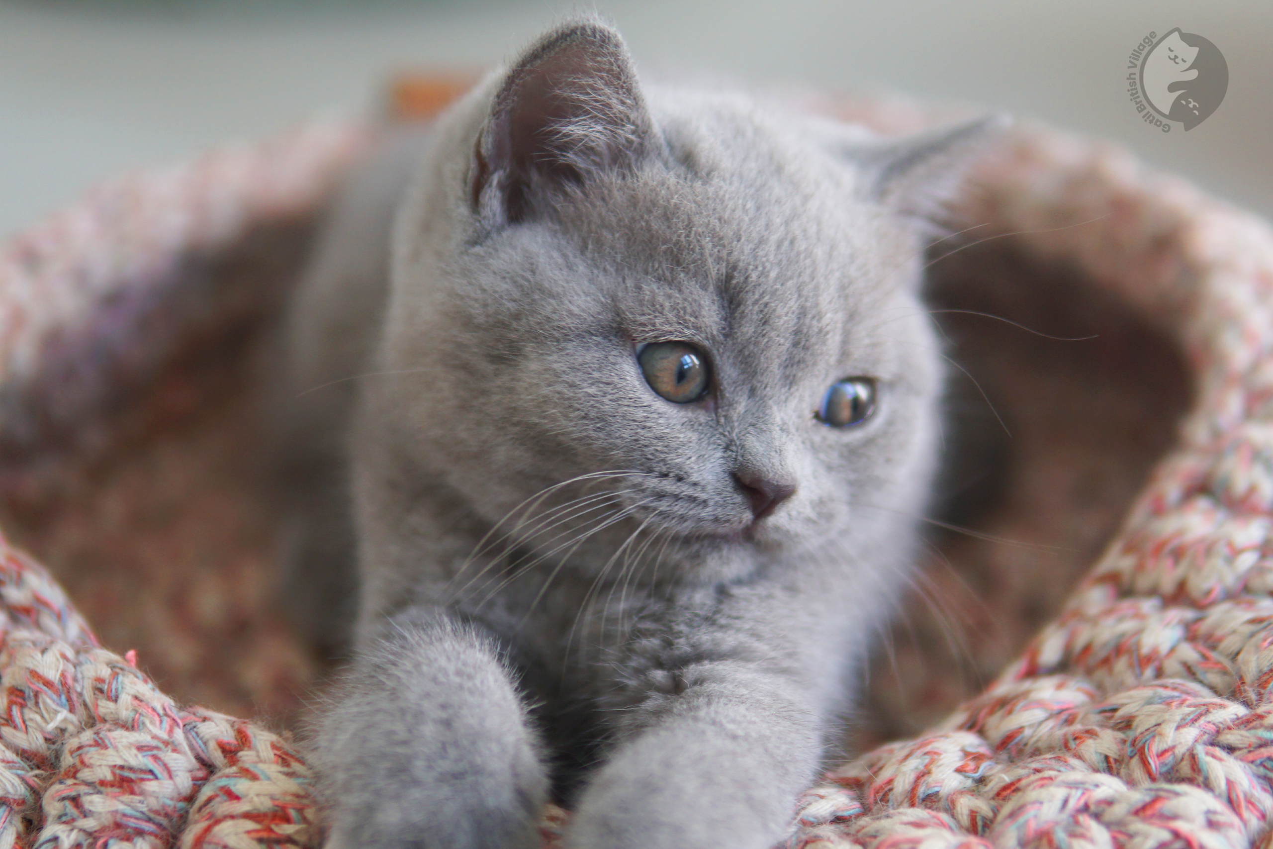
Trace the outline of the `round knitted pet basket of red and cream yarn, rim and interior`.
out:
<instances>
[{"instance_id":1,"label":"round knitted pet basket of red and cream yarn, rim and interior","mask_svg":"<svg viewBox=\"0 0 1273 849\"><path fill-rule=\"evenodd\" d=\"M819 108L886 131L938 120ZM307 768L265 727L294 717L321 663L270 603L275 517L248 495L258 410L241 387L260 386L314 209L367 132L311 127L129 177L0 247L0 519L106 644L139 649L101 648L50 573L0 547L0 849L320 845ZM1055 420L1013 406L1030 374L989 393L1025 425L1017 477L1044 482L1002 484L987 499L1004 512L966 522L985 538L934 546L974 588L1022 589L956 598L939 570L928 588L956 620L1004 624L964 630L993 680L942 684L941 663L900 652L894 678L925 682L911 726L868 712L862 738L894 740L806 793L785 845L1273 846L1273 233L1039 127L987 162L953 220L971 229L934 256L939 311L1043 293L1082 331L1099 305L1095 347L1049 347L1039 373L1096 351L1101 368L1057 386L1122 387L1082 409L1125 438L1092 454L1030 425ZM952 344L971 355L978 339L999 337ZM987 363L1022 359L997 345ZM1125 397L1143 403L1106 425ZM182 708L155 681L256 719ZM546 841L565 817L549 812Z\"/></svg>"}]
</instances>

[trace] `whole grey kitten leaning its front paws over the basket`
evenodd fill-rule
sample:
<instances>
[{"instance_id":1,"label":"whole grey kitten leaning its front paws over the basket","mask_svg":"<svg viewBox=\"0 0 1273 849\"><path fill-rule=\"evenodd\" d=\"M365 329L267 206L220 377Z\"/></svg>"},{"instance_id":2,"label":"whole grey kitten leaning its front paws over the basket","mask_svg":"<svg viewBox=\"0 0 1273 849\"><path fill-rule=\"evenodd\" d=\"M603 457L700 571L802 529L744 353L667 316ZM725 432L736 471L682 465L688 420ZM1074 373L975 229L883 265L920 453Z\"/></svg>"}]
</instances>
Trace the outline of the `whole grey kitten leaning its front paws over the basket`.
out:
<instances>
[{"instance_id":1,"label":"whole grey kitten leaning its front paws over the basket","mask_svg":"<svg viewBox=\"0 0 1273 849\"><path fill-rule=\"evenodd\" d=\"M330 846L535 846L550 794L570 849L783 835L911 559L920 219L994 125L643 87L583 20L355 176L292 317L298 587L360 575Z\"/></svg>"}]
</instances>

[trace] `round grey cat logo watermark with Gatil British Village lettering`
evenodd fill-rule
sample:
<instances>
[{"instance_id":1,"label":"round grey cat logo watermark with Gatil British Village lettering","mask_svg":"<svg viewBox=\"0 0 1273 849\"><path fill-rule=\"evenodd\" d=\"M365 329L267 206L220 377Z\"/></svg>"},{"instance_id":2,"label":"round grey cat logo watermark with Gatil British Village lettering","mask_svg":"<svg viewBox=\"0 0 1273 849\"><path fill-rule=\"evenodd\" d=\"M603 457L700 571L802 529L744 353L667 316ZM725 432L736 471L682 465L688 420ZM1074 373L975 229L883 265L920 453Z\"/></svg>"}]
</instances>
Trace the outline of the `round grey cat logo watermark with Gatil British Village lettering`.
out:
<instances>
[{"instance_id":1,"label":"round grey cat logo watermark with Gatil British Village lettering","mask_svg":"<svg viewBox=\"0 0 1273 849\"><path fill-rule=\"evenodd\" d=\"M1211 117L1228 90L1228 62L1216 45L1175 28L1150 33L1128 55L1127 88L1141 120L1164 132Z\"/></svg>"}]
</instances>

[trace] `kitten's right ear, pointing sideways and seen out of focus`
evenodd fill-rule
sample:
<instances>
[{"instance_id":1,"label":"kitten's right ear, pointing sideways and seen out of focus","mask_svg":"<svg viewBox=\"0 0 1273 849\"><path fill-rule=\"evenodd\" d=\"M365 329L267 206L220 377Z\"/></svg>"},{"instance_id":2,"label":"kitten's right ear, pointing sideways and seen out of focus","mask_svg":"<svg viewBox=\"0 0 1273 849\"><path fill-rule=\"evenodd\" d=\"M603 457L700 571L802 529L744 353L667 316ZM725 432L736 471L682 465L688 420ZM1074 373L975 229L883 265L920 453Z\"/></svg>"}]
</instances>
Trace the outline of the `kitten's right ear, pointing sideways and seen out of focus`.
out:
<instances>
[{"instance_id":1,"label":"kitten's right ear, pointing sideways and seen out of focus","mask_svg":"<svg viewBox=\"0 0 1273 849\"><path fill-rule=\"evenodd\" d=\"M937 220L967 169L1012 120L990 115L966 123L882 143L858 143L844 151L863 174L863 192L904 215Z\"/></svg>"}]
</instances>

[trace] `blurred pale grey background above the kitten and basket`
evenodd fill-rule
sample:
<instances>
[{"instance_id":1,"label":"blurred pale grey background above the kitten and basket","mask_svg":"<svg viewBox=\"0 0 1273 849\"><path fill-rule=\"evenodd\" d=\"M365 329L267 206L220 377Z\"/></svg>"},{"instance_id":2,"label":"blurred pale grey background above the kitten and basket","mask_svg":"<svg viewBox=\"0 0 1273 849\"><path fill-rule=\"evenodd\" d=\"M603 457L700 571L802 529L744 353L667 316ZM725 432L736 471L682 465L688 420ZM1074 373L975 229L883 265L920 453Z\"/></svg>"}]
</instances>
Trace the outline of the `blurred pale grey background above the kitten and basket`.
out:
<instances>
[{"instance_id":1,"label":"blurred pale grey background above the kitten and basket","mask_svg":"<svg viewBox=\"0 0 1273 849\"><path fill-rule=\"evenodd\" d=\"M0 0L0 237L103 177L374 108L404 69L480 70L579 9L555 0ZM592 6L588 6L592 8ZM1273 3L605 0L662 74L900 90L1109 137L1273 215ZM1189 132L1143 123L1127 56L1180 27L1228 61Z\"/></svg>"}]
</instances>

